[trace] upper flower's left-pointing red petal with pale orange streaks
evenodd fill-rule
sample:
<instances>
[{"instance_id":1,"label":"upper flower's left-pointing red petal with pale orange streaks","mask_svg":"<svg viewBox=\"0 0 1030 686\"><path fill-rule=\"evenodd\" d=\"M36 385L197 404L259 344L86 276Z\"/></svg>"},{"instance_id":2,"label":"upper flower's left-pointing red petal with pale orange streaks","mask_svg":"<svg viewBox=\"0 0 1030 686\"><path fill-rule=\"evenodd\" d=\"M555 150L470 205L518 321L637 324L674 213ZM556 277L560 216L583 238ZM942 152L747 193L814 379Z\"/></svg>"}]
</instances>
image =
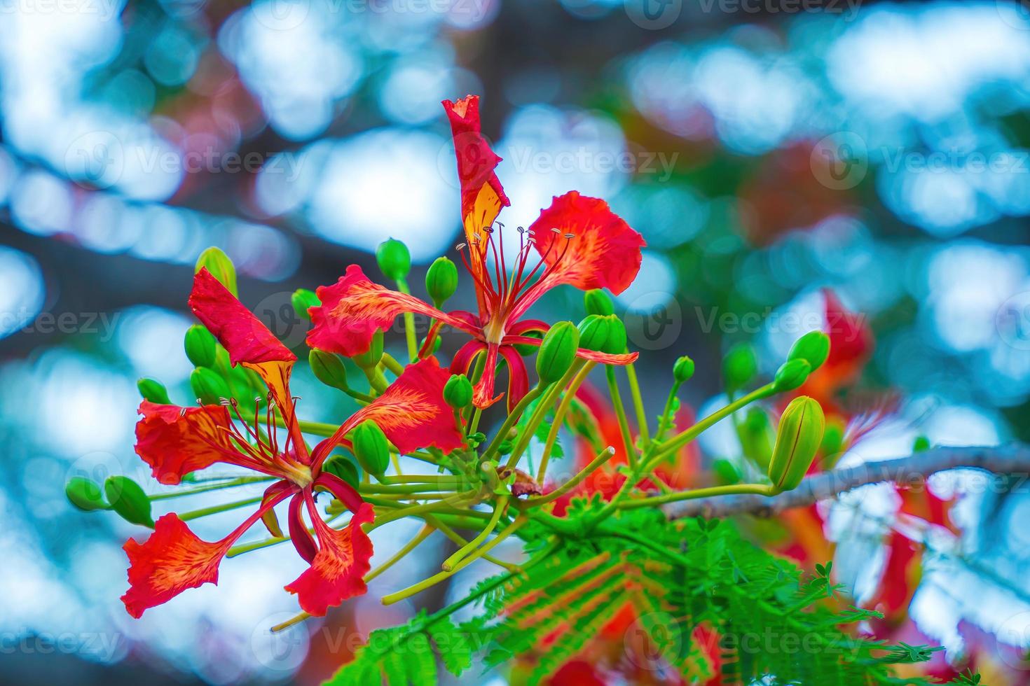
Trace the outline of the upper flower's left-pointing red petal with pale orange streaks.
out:
<instances>
[{"instance_id":1,"label":"upper flower's left-pointing red petal with pale orange streaks","mask_svg":"<svg viewBox=\"0 0 1030 686\"><path fill-rule=\"evenodd\" d=\"M319 286L321 305L311 308L308 346L347 357L369 350L376 331L385 331L406 312L439 319L451 326L474 332L460 317L444 314L412 295L383 288L369 281L362 267L351 264L332 286Z\"/></svg>"}]
</instances>

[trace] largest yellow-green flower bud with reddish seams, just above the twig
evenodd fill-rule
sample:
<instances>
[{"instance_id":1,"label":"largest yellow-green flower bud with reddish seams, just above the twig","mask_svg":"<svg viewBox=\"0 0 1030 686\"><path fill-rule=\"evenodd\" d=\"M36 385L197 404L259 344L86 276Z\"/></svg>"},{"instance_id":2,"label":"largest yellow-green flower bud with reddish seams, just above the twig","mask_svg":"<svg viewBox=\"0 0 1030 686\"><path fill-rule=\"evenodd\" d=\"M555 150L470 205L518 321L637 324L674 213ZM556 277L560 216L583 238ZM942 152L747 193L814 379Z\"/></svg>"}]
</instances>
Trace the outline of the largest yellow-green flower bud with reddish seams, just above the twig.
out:
<instances>
[{"instance_id":1,"label":"largest yellow-green flower bud with reddish seams, just above the twig","mask_svg":"<svg viewBox=\"0 0 1030 686\"><path fill-rule=\"evenodd\" d=\"M806 395L787 405L769 460L769 480L778 492L792 491L804 478L823 440L825 424L823 408Z\"/></svg>"}]
</instances>

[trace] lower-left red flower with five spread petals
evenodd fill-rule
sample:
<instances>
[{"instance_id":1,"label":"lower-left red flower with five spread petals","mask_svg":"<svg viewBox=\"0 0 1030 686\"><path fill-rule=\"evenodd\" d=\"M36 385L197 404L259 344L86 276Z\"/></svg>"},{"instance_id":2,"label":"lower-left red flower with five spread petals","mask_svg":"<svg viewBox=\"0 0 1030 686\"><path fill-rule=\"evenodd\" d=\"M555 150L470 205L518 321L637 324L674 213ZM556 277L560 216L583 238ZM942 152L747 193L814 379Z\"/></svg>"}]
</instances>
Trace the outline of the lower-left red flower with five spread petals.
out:
<instances>
[{"instance_id":1,"label":"lower-left red flower with five spread petals","mask_svg":"<svg viewBox=\"0 0 1030 686\"><path fill-rule=\"evenodd\" d=\"M199 539L174 513L158 519L153 534L143 543L129 540L125 550L130 587L122 601L129 614L139 617L186 588L217 583L218 564L229 548L259 519L277 530L272 510L289 498L289 537L311 567L286 590L298 594L306 612L323 615L328 608L366 590L363 577L369 571L372 543L362 525L372 520L373 510L353 488L321 471L322 464L336 445L346 444L347 433L366 420L375 421L403 453L427 445L443 450L459 446L461 436L443 400L448 374L434 358L409 366L374 402L309 450L289 394L294 354L207 269L194 279L190 306L226 347L234 365L252 369L268 384L264 432L259 419L253 425L242 421L235 400L201 407L143 401L139 407L143 419L136 425L136 453L162 483L179 483L187 472L214 463L246 467L278 480L266 490L258 510L219 541ZM227 405L236 412L235 422ZM276 412L286 426L281 442ZM315 506L319 491L332 494L353 513L344 529L333 529L321 519ZM313 537L304 522L305 509Z\"/></svg>"}]
</instances>

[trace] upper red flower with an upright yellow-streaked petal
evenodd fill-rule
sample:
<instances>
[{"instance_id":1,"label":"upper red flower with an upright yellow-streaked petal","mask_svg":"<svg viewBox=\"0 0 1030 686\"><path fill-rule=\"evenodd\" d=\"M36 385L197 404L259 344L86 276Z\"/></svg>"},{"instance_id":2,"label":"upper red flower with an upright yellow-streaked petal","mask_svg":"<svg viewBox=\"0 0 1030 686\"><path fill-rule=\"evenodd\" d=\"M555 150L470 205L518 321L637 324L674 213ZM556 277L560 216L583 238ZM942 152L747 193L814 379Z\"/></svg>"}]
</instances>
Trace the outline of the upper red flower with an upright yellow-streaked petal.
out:
<instances>
[{"instance_id":1,"label":"upper red flower with an upright yellow-streaked petal","mask_svg":"<svg viewBox=\"0 0 1030 686\"><path fill-rule=\"evenodd\" d=\"M431 350L443 324L466 331L474 340L454 356L451 371L465 372L479 354L486 366L476 384L473 400L486 407L494 396L499 356L508 364L508 405L514 406L528 389L525 365L515 344L540 345L525 334L546 331L548 325L523 319L529 306L551 288L569 284L583 290L608 288L618 294L637 277L644 239L615 215L608 204L571 191L556 196L528 229L519 227L520 249L506 258L503 242L493 238L494 220L510 205L494 174L501 161L480 133L479 98L444 101L450 118L461 183L461 222L467 243L458 246L472 275L479 313L443 313L416 297L387 290L371 281L356 264L336 284L318 289L321 305L310 311L314 326L308 345L346 356L369 349L376 331L385 331L394 318L411 312L437 320L426 338ZM503 230L503 224L497 223ZM540 260L529 266L534 250ZM511 269L511 272L509 272ZM631 355L606 355L580 350L579 356L608 364L628 364Z\"/></svg>"}]
</instances>

